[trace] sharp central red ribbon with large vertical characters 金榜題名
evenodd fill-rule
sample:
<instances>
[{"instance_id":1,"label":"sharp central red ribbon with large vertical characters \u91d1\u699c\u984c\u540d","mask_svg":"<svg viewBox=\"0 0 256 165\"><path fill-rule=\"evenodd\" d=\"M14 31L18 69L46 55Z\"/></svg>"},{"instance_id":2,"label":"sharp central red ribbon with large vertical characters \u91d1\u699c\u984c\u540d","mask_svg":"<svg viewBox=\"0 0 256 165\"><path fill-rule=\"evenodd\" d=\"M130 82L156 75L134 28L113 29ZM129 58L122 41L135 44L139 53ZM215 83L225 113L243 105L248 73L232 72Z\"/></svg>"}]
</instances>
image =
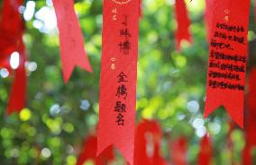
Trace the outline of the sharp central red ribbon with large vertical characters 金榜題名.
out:
<instances>
[{"instance_id":1,"label":"sharp central red ribbon with large vertical characters \u91d1\u699c\u984c\u540d","mask_svg":"<svg viewBox=\"0 0 256 165\"><path fill-rule=\"evenodd\" d=\"M139 0L104 0L97 154L114 144L133 164Z\"/></svg>"}]
</instances>

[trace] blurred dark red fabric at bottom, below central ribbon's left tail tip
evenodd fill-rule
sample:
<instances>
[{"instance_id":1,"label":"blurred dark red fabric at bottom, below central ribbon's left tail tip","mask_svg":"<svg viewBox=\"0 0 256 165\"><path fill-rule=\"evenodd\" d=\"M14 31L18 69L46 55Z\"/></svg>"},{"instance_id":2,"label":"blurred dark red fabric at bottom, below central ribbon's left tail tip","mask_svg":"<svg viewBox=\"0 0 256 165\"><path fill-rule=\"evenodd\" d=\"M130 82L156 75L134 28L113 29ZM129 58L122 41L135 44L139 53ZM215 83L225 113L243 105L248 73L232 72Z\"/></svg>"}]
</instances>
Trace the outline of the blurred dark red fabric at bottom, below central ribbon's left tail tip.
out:
<instances>
[{"instance_id":1,"label":"blurred dark red fabric at bottom, below central ribbon's left tail tip","mask_svg":"<svg viewBox=\"0 0 256 165\"><path fill-rule=\"evenodd\" d=\"M83 165L84 162L91 160L96 165L106 165L110 161L114 161L114 147L110 146L105 149L98 157L96 157L96 136L89 135L85 140L82 152L78 156L77 165Z\"/></svg>"}]
</instances>

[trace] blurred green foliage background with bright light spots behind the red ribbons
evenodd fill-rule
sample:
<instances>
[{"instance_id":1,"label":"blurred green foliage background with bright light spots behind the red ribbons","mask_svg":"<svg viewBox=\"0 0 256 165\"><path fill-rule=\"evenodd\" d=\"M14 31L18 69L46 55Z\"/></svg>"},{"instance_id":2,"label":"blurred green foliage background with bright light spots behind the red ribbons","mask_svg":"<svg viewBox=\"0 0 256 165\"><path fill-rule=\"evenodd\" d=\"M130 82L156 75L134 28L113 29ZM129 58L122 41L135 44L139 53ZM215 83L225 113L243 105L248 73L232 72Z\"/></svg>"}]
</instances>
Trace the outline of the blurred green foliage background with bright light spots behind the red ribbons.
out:
<instances>
[{"instance_id":1,"label":"blurred green foliage background with bright light spots behind the red ribbons","mask_svg":"<svg viewBox=\"0 0 256 165\"><path fill-rule=\"evenodd\" d=\"M204 22L205 1L187 2L193 43L175 48L174 0L143 0L137 85L136 122L156 119L163 136L162 157L171 162L169 142L187 138L188 164L197 164L201 138L213 140L213 164L242 164L245 135L223 108L204 119L208 43ZM2 1L0 2L2 6ZM5 114L12 76L0 69L0 164L76 164L87 135L96 134L101 59L102 1L76 0L76 13L94 72L76 68L63 83L59 36L51 0L25 1L20 7L25 21L28 76L26 108ZM255 64L254 5L251 4L250 61ZM248 90L246 90L247 92ZM245 109L246 111L246 109ZM230 150L229 141L233 143ZM256 154L254 154L256 155ZM256 164L256 158L254 159ZM87 161L92 165L92 161ZM117 153L110 164L124 164Z\"/></svg>"}]
</instances>

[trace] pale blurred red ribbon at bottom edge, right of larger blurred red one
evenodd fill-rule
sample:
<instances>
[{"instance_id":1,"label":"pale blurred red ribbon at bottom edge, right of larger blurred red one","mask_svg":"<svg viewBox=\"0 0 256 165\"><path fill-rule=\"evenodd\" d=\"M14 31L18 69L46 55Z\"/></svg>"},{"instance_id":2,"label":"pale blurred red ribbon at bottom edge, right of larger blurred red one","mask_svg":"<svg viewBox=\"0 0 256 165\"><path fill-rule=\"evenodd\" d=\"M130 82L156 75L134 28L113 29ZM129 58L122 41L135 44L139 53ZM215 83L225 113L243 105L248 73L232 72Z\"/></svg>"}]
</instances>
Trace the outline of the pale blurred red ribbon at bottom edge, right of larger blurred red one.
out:
<instances>
[{"instance_id":1,"label":"pale blurred red ribbon at bottom edge, right of larger blurred red one","mask_svg":"<svg viewBox=\"0 0 256 165\"><path fill-rule=\"evenodd\" d=\"M179 137L175 142L169 143L170 157L174 165L187 165L187 139Z\"/></svg>"}]
</instances>

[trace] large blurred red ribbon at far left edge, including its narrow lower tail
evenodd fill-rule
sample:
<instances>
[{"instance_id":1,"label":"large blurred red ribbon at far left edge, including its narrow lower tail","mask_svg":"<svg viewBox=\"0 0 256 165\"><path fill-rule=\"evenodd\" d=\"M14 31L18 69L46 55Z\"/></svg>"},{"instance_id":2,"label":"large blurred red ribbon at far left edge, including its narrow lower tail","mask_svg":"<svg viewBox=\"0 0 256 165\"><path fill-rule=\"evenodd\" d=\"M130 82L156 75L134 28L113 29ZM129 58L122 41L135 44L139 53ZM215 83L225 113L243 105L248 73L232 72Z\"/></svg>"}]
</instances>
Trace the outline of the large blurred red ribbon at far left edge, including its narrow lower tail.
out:
<instances>
[{"instance_id":1,"label":"large blurred red ribbon at far left edge, including its narrow lower tail","mask_svg":"<svg viewBox=\"0 0 256 165\"><path fill-rule=\"evenodd\" d=\"M19 7L23 0L5 0L0 22L0 66L11 72L10 56L19 53L19 66L14 70L14 83L7 104L7 114L21 111L26 98L25 48L23 45L23 19Z\"/></svg>"}]
</instances>

